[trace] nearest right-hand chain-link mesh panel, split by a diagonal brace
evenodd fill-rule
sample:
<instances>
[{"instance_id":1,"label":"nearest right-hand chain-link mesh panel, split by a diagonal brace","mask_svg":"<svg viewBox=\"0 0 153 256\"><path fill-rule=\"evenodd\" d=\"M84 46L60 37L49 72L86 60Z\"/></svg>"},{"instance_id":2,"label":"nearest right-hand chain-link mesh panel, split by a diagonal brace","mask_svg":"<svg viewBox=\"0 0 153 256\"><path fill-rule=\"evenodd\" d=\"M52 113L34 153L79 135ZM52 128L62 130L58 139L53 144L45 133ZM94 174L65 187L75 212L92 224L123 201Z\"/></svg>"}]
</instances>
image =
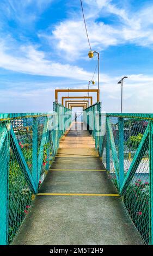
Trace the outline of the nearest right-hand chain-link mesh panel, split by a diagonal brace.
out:
<instances>
[{"instance_id":1,"label":"nearest right-hand chain-link mesh panel, split by a diagonal brace","mask_svg":"<svg viewBox=\"0 0 153 256\"><path fill-rule=\"evenodd\" d=\"M148 120L124 119L124 173L130 169L134 155L144 136ZM149 243L149 139L139 153L140 163L123 196L133 223L146 244Z\"/></svg>"}]
</instances>

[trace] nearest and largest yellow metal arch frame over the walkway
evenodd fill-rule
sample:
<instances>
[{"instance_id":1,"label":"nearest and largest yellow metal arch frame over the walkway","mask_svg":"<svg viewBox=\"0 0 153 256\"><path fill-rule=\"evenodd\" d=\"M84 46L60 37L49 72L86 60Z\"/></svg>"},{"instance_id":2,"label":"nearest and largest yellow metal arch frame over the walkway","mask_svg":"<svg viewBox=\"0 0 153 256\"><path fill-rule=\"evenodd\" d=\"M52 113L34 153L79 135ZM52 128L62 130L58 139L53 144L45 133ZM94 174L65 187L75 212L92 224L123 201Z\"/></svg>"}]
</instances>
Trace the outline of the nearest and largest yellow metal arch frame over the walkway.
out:
<instances>
[{"instance_id":1,"label":"nearest and largest yellow metal arch frame over the walkway","mask_svg":"<svg viewBox=\"0 0 153 256\"><path fill-rule=\"evenodd\" d=\"M56 89L55 90L55 101L58 102L58 93L96 93L97 102L99 102L99 89Z\"/></svg>"}]
</instances>

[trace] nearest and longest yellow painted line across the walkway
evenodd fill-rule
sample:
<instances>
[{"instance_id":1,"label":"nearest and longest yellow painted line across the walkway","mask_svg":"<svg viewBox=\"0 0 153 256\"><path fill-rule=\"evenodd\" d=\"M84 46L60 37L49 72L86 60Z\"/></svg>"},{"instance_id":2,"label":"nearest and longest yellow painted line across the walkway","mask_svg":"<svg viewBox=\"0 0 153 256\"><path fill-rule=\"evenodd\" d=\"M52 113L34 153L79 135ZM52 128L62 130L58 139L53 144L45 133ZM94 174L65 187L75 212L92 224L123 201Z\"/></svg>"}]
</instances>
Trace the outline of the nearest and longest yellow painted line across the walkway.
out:
<instances>
[{"instance_id":1,"label":"nearest and longest yellow painted line across the walkway","mask_svg":"<svg viewBox=\"0 0 153 256\"><path fill-rule=\"evenodd\" d=\"M38 193L37 196L119 197L119 194Z\"/></svg>"}]
</instances>

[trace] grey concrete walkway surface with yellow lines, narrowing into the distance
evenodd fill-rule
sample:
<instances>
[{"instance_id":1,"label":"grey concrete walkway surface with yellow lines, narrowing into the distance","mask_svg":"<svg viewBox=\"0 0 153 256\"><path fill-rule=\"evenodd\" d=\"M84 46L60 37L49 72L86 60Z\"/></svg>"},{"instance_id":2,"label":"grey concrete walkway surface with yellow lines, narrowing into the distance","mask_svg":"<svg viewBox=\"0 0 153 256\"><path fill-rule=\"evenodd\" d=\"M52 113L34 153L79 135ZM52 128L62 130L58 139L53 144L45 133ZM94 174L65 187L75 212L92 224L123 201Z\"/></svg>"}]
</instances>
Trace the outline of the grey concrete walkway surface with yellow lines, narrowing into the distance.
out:
<instances>
[{"instance_id":1,"label":"grey concrete walkway surface with yellow lines, narrowing into the distance","mask_svg":"<svg viewBox=\"0 0 153 256\"><path fill-rule=\"evenodd\" d=\"M56 161L14 245L143 244L107 178L93 138L81 127L60 141Z\"/></svg>"}]
</instances>

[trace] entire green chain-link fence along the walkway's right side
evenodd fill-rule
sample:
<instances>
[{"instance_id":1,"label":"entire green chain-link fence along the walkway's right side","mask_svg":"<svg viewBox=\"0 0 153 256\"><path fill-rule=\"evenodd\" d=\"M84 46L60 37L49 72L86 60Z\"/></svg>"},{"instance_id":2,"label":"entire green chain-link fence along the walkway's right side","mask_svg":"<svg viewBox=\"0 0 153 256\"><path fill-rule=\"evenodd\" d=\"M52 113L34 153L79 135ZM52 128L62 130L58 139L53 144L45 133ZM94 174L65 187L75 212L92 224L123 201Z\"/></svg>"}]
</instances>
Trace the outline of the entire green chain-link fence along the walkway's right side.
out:
<instances>
[{"instance_id":1,"label":"entire green chain-link fence along the walkway's right side","mask_svg":"<svg viewBox=\"0 0 153 256\"><path fill-rule=\"evenodd\" d=\"M102 162L123 199L146 245L153 244L153 114L99 113L102 130L96 133L96 115L99 103L85 109L90 112L94 126L90 130L90 115L84 118L95 138L95 147ZM84 114L85 116L85 114ZM99 122L99 121L98 121Z\"/></svg>"}]
</instances>

